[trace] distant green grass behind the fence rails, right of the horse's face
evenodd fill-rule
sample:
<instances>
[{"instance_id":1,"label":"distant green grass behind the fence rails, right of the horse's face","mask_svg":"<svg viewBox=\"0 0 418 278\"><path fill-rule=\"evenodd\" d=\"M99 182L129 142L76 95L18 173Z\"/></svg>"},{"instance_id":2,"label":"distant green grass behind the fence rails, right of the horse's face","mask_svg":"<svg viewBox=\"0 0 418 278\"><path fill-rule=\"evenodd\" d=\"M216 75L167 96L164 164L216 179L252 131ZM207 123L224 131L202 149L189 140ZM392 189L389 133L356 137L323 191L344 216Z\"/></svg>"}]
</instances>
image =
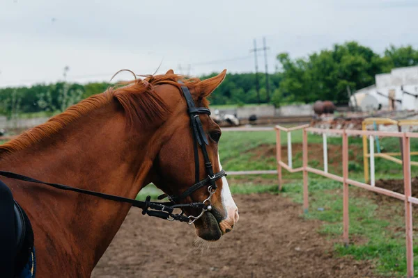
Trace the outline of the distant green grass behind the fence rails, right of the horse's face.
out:
<instances>
[{"instance_id":1,"label":"distant green grass behind the fence rails, right of the horse's face","mask_svg":"<svg viewBox=\"0 0 418 278\"><path fill-rule=\"evenodd\" d=\"M309 134L309 143L322 144L322 136L315 134ZM328 145L341 146L341 138L330 137L327 140ZM258 154L255 155L254 150L257 147L270 146L274 149L276 143L275 131L238 131L238 132L224 132L219 142L219 156L222 162L222 166L226 170L230 171L242 171L242 170L274 170L277 169L276 158L274 154ZM302 131L292 132L292 143L302 143ZM285 132L281 133L281 144L287 145L287 135ZM398 138L382 138L380 144L387 152L399 152L399 140ZM320 146L322 148L322 146ZM357 152L353 151L353 147L356 147ZM363 154L362 154L362 138L349 138L349 170L350 178L364 181L363 174ZM311 149L310 149L311 150ZM418 150L418 140L411 140L411 151ZM341 150L339 156L335 158L336 154L330 154L328 157L328 163L334 163L341 161ZM287 163L287 157L282 154L282 159ZM418 161L418 156L412 156L412 161ZM309 166L318 167L322 163L323 158L309 158ZM302 166L302 152L293 151L293 167ZM401 179L403 177L402 165L387 161L383 158L376 158L376 179ZM329 166L329 170L333 174L342 175L342 165L338 163L337 168ZM412 166L412 176L418 175L418 167ZM300 177L300 173L288 173L283 171L285 179L295 179Z\"/></svg>"}]
</instances>

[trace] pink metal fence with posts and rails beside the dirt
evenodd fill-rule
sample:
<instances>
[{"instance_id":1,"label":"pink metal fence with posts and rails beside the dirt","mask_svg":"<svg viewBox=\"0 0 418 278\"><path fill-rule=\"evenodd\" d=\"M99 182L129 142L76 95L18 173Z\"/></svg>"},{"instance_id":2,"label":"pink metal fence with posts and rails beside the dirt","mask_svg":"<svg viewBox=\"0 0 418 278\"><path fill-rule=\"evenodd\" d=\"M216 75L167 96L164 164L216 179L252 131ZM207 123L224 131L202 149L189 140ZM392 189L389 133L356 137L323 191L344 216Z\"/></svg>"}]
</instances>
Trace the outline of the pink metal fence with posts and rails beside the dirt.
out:
<instances>
[{"instance_id":1,"label":"pink metal fence with posts and rails beside the dirt","mask_svg":"<svg viewBox=\"0 0 418 278\"><path fill-rule=\"evenodd\" d=\"M349 243L348 232L349 232L349 220L348 220L348 185L357 186L366 190L373 191L375 193L387 195L400 199L405 203L405 236L406 236L406 263L407 263L407 276L414 276L414 254L412 249L412 204L418 204L418 199L411 196L411 172L410 172L410 138L418 138L418 133L409 132L382 132L382 131L357 131L357 130L337 130L337 129L315 129L307 126L295 126L292 129L286 129L282 126L276 126L276 138L277 138L277 173L279 176L279 189L282 186L281 168L285 168L289 172L303 172L303 208L304 212L309 209L309 186L308 186L308 173L318 174L335 181L343 183L343 241ZM302 129L303 142L302 142L302 154L303 154L303 165L302 167L293 168L281 160L281 132L290 132ZM342 165L343 165L343 176L340 177L336 174L330 174L323 170L315 169L314 167L308 166L308 132L316 133L337 133L341 134L342 137ZM371 186L366 183L349 179L348 177L348 136L382 136L382 137L398 137L402 140L402 159L403 159L403 180L404 180L404 193L396 193L391 190L384 188L378 188ZM288 142L288 144L291 142ZM326 152L325 152L326 153Z\"/></svg>"}]
</instances>

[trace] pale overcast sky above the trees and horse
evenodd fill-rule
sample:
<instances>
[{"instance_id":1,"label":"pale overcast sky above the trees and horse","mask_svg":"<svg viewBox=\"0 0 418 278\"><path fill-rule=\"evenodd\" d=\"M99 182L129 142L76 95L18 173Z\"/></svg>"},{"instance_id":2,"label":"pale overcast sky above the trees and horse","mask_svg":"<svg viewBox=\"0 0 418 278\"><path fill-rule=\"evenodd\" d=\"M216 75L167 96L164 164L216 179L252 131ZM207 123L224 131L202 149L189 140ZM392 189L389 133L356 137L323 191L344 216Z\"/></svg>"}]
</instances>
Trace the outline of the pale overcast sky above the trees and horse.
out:
<instances>
[{"instance_id":1,"label":"pale overcast sky above the trees and horse","mask_svg":"<svg viewBox=\"0 0 418 278\"><path fill-rule=\"evenodd\" d=\"M78 82L153 74L160 63L159 72L254 72L249 49L263 36L270 72L280 52L347 40L379 53L418 47L417 15L416 0L0 0L0 87L59 81L65 66Z\"/></svg>"}]
</instances>

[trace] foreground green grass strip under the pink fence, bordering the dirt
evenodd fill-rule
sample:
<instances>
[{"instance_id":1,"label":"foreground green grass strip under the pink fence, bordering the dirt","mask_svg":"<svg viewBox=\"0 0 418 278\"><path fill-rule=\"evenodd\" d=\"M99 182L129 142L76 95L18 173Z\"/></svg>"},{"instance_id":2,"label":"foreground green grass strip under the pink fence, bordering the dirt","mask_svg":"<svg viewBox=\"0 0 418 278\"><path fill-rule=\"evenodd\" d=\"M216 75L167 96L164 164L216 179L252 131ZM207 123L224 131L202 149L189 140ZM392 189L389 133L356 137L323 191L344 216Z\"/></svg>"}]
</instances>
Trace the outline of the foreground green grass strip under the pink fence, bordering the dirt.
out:
<instances>
[{"instance_id":1,"label":"foreground green grass strip under the pink fence, bordering the dirt","mask_svg":"<svg viewBox=\"0 0 418 278\"><path fill-rule=\"evenodd\" d=\"M341 188L341 183L336 181L309 181L309 213L304 218L324 221L320 233L331 238L341 238L343 233ZM361 189L350 187L350 191L352 190ZM286 184L283 194L302 204L302 183ZM336 252L341 256L351 255L358 260L374 261L376 270L381 275L403 277L406 273L406 253L403 216L399 213L402 207L402 202L398 206L378 205L367 197L350 196L350 238L361 240L348 247L337 243ZM387 215L391 217L388 218ZM418 252L418 247L414 249ZM415 259L415 275L418 275L417 259L418 257Z\"/></svg>"}]
</instances>

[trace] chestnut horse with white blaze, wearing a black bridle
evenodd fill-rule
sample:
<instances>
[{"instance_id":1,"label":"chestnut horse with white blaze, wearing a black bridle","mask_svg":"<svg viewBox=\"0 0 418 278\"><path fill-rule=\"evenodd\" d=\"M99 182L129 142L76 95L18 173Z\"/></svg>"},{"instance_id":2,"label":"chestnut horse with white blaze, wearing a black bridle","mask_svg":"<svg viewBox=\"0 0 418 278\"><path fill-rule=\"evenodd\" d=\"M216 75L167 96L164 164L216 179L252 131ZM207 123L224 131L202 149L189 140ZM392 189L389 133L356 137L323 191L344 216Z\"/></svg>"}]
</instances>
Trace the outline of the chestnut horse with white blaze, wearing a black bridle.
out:
<instances>
[{"instance_id":1,"label":"chestnut horse with white blaze, wearing a black bridle","mask_svg":"<svg viewBox=\"0 0 418 278\"><path fill-rule=\"evenodd\" d=\"M225 75L201 81L169 70L110 87L0 145L0 170L119 199L134 199L153 183L185 206L176 218L191 220L200 238L218 240L239 218L219 161L221 130L207 113L207 98ZM210 169L217 174L208 177ZM27 180L0 181L31 222L38 277L90 277L132 206Z\"/></svg>"}]
</instances>

